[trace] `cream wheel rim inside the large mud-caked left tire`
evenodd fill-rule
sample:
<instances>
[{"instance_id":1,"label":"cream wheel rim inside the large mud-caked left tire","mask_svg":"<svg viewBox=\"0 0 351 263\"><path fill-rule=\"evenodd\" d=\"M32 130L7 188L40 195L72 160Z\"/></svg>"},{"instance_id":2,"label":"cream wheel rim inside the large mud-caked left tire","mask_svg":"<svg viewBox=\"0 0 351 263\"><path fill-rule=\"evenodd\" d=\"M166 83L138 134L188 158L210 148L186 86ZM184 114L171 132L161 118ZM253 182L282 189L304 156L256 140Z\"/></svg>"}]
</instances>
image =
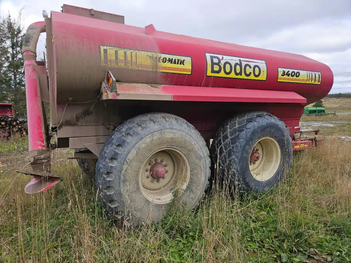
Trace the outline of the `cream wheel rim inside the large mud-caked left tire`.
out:
<instances>
[{"instance_id":1,"label":"cream wheel rim inside the large mud-caked left tire","mask_svg":"<svg viewBox=\"0 0 351 263\"><path fill-rule=\"evenodd\" d=\"M166 170L164 177L153 178L151 176L151 167L154 163L163 164ZM189 181L189 161L181 151L175 148L162 148L152 153L143 163L139 173L141 193L155 204L171 202L173 189L183 193Z\"/></svg>"}]
</instances>

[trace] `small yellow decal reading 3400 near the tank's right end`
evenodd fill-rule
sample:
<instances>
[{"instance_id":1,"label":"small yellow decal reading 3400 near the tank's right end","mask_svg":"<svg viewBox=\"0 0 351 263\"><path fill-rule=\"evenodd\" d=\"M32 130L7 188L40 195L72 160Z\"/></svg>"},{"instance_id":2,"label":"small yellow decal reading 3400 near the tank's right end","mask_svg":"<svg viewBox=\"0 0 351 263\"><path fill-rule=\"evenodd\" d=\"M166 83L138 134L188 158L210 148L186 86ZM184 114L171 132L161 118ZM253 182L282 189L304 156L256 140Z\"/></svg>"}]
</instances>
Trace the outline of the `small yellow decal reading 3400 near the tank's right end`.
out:
<instances>
[{"instance_id":1,"label":"small yellow decal reading 3400 near the tank's right end","mask_svg":"<svg viewBox=\"0 0 351 263\"><path fill-rule=\"evenodd\" d=\"M278 68L278 82L293 82L305 84L320 84L320 72L298 70L291 68Z\"/></svg>"}]
</instances>

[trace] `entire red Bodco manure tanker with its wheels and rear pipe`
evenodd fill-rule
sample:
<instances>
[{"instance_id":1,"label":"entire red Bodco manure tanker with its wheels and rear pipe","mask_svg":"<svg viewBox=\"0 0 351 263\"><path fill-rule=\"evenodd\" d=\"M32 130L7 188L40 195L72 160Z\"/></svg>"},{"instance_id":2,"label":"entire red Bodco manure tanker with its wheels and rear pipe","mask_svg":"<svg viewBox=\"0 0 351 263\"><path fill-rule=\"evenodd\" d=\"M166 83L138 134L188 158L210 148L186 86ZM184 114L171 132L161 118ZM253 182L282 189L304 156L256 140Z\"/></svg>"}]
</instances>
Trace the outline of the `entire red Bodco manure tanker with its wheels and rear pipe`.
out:
<instances>
[{"instance_id":1,"label":"entire red Bodco manure tanker with its wheels and rear pipe","mask_svg":"<svg viewBox=\"0 0 351 263\"><path fill-rule=\"evenodd\" d=\"M304 106L333 85L323 63L129 26L93 9L63 5L43 15L22 48L31 165L21 172L34 176L27 193L59 182L50 151L68 147L96 174L108 212L138 225L163 217L173 189L197 207L211 171L239 191L267 191L293 150L317 143L296 134ZM43 32L48 72L36 61Z\"/></svg>"}]
</instances>

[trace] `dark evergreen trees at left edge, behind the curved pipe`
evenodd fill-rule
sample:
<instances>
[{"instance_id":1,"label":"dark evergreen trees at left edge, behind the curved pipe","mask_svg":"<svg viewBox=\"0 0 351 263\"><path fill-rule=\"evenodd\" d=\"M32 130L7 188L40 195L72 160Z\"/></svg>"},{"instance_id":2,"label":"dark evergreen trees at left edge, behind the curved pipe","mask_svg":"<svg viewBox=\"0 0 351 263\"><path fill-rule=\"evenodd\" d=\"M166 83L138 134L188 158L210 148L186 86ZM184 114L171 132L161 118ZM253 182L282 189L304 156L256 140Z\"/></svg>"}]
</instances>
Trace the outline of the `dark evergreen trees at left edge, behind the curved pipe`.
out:
<instances>
[{"instance_id":1,"label":"dark evergreen trees at left edge, behind the curved pipe","mask_svg":"<svg viewBox=\"0 0 351 263\"><path fill-rule=\"evenodd\" d=\"M21 52L25 31L21 11L17 17L7 14L0 18L0 103L12 103L16 117L25 118L26 89Z\"/></svg>"}]
</instances>

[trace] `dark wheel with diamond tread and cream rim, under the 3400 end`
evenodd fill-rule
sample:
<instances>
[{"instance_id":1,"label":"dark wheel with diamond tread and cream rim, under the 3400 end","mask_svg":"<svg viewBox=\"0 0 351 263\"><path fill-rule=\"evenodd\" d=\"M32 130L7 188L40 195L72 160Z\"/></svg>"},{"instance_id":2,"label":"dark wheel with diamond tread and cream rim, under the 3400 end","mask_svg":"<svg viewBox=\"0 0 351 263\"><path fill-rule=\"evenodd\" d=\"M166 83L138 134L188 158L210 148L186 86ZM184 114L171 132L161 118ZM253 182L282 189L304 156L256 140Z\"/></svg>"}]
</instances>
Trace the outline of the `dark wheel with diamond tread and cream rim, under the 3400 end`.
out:
<instances>
[{"instance_id":1,"label":"dark wheel with diamond tread and cream rim, under the 3400 end","mask_svg":"<svg viewBox=\"0 0 351 263\"><path fill-rule=\"evenodd\" d=\"M241 113L218 129L211 159L213 176L222 186L238 193L266 193L290 169L291 136L285 123L272 114Z\"/></svg>"}]
</instances>

